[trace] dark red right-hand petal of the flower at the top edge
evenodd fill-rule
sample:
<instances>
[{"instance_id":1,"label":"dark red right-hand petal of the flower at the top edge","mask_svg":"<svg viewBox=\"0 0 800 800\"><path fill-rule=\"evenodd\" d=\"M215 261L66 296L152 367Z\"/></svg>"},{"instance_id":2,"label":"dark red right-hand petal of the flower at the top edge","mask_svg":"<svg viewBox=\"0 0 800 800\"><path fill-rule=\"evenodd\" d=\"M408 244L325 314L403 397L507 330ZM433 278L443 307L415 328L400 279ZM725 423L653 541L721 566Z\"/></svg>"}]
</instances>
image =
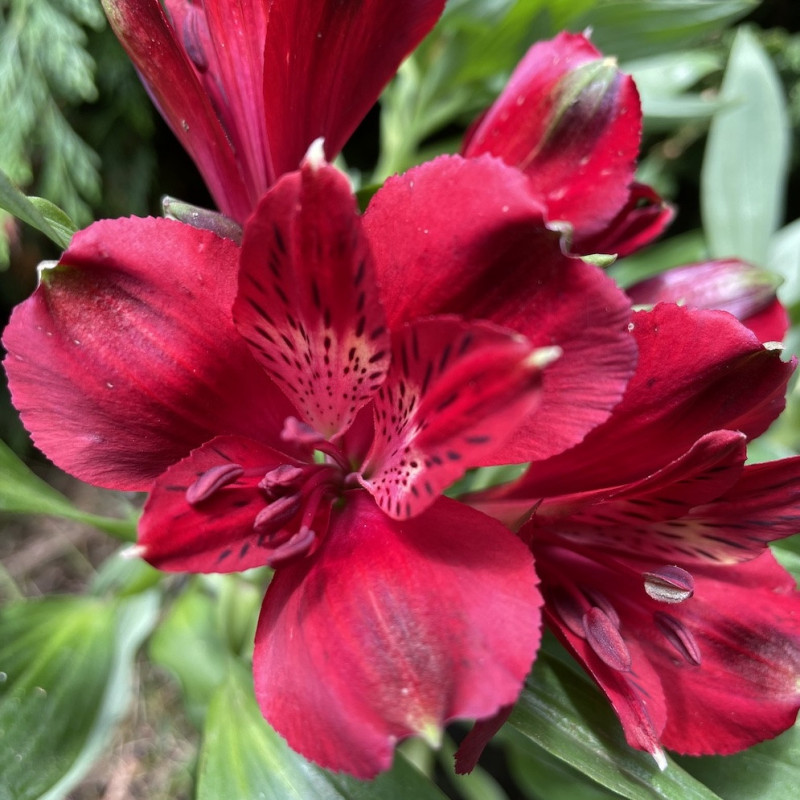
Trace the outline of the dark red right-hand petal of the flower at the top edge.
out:
<instances>
[{"instance_id":1,"label":"dark red right-hand petal of the flower at the top edge","mask_svg":"<svg viewBox=\"0 0 800 800\"><path fill-rule=\"evenodd\" d=\"M276 174L297 169L320 136L332 159L443 8L444 0L273 2L264 108Z\"/></svg>"}]
</instances>

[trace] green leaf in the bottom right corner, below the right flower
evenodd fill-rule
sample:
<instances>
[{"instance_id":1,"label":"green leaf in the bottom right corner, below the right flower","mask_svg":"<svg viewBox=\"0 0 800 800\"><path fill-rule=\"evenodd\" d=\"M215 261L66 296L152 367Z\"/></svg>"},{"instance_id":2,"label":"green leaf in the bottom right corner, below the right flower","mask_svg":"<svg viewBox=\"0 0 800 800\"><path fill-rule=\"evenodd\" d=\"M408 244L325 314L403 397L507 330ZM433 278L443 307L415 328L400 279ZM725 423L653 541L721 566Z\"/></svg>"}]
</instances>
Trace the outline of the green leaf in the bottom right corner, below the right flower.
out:
<instances>
[{"instance_id":1,"label":"green leaf in the bottom right corner, below the right flower","mask_svg":"<svg viewBox=\"0 0 800 800\"><path fill-rule=\"evenodd\" d=\"M800 786L800 728L732 756L679 757L678 762L725 800L785 800Z\"/></svg>"}]
</instances>

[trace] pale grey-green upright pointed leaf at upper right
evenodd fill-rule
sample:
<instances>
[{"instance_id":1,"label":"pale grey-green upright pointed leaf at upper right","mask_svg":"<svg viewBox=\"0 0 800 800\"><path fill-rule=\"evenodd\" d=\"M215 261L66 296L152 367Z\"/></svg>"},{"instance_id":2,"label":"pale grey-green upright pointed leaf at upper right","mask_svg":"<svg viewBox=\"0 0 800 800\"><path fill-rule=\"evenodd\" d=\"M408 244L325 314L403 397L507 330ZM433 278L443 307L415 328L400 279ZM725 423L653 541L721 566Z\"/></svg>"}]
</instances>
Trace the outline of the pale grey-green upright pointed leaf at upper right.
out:
<instances>
[{"instance_id":1,"label":"pale grey-green upright pointed leaf at upper right","mask_svg":"<svg viewBox=\"0 0 800 800\"><path fill-rule=\"evenodd\" d=\"M775 67L746 28L734 39L722 98L701 173L703 224L713 256L764 266L783 218L789 122Z\"/></svg>"}]
</instances>

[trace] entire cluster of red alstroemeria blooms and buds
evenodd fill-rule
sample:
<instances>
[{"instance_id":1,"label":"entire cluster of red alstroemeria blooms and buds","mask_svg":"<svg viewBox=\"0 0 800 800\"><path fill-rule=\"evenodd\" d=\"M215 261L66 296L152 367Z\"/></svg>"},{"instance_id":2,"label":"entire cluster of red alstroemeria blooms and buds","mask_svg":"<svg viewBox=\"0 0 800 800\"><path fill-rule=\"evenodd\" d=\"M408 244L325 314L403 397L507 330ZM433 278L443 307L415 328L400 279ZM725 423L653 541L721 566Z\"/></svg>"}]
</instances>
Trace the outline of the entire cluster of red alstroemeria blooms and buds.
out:
<instances>
[{"instance_id":1,"label":"entire cluster of red alstroemeria blooms and buds","mask_svg":"<svg viewBox=\"0 0 800 800\"><path fill-rule=\"evenodd\" d=\"M769 293L731 309L758 335L690 307L713 281L686 273L629 297L580 257L671 217L634 180L632 80L584 36L539 43L459 155L360 215L326 158L443 0L105 5L224 217L77 233L5 367L56 464L149 492L142 558L274 568L253 671L289 744L371 777L478 719L469 769L542 620L661 764L790 726L800 600L767 543L800 529L800 459L744 463L786 319Z\"/></svg>"}]
</instances>

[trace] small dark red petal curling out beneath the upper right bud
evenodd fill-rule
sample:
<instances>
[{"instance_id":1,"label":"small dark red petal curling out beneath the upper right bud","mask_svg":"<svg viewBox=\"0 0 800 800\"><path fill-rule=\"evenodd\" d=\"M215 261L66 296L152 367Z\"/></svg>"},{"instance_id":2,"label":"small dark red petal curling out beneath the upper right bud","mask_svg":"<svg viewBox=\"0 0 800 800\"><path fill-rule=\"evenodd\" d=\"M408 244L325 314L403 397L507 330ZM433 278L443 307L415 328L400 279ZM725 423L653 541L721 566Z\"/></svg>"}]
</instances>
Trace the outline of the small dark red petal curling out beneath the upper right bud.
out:
<instances>
[{"instance_id":1,"label":"small dark red petal curling out beneath the upper right bud","mask_svg":"<svg viewBox=\"0 0 800 800\"><path fill-rule=\"evenodd\" d=\"M675 209L650 186L634 182L628 202L606 228L594 236L577 232L571 248L576 253L616 253L621 258L650 244L674 217Z\"/></svg>"}]
</instances>

